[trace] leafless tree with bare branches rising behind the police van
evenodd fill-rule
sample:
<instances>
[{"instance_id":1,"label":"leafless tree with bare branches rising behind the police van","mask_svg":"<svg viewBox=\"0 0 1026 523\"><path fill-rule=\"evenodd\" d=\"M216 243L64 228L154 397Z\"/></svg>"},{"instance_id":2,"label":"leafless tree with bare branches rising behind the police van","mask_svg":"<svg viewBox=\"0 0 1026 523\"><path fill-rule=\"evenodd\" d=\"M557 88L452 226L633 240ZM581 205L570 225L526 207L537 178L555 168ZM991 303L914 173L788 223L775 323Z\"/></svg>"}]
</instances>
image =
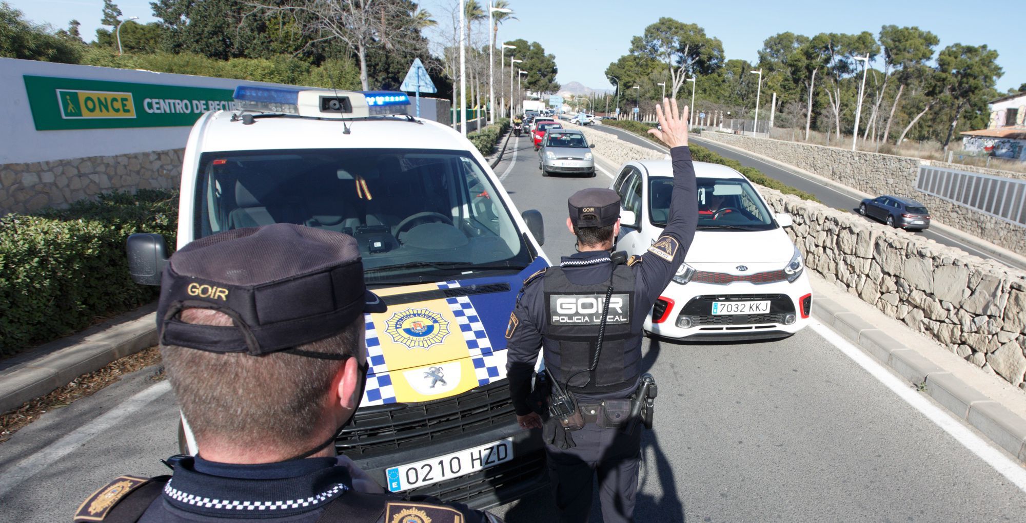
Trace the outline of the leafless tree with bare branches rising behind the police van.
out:
<instances>
[{"instance_id":1,"label":"leafless tree with bare branches rising behind the police van","mask_svg":"<svg viewBox=\"0 0 1026 523\"><path fill-rule=\"evenodd\" d=\"M418 38L423 16L410 11L402 0L285 0L264 3L247 1L251 14L288 15L302 31L317 42L338 40L356 54L360 65L360 85L369 89L366 55L369 47L411 51L421 45ZM416 8L416 4L415 8Z\"/></svg>"}]
</instances>

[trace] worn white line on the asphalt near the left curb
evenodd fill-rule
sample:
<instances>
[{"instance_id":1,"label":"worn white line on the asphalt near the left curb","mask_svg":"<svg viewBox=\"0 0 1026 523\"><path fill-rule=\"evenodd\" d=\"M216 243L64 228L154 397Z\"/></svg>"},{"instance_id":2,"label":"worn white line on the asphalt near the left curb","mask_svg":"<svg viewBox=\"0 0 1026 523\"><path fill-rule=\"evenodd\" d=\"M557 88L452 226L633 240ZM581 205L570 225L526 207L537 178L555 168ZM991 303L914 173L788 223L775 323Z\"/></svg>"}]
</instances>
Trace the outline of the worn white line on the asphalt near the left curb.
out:
<instances>
[{"instance_id":1,"label":"worn white line on the asphalt near the left curb","mask_svg":"<svg viewBox=\"0 0 1026 523\"><path fill-rule=\"evenodd\" d=\"M72 431L52 445L8 467L8 470L0 474L0 496L3 496L8 490L16 487L25 480L35 476L39 471L72 453L111 427L121 423L124 418L149 405L150 402L163 396L170 390L171 384L166 379L148 389L144 389L131 398L108 410L100 417Z\"/></svg>"}]
</instances>

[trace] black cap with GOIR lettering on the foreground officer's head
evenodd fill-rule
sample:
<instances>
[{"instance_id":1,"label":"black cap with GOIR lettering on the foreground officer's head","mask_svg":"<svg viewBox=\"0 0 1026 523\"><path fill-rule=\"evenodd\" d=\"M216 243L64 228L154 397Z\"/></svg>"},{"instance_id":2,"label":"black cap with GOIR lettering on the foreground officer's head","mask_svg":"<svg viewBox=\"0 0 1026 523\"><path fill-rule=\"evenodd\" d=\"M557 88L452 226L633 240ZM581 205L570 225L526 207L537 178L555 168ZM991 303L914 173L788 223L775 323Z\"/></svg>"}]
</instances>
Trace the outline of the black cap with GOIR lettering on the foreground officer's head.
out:
<instances>
[{"instance_id":1,"label":"black cap with GOIR lettering on the foreground officer's head","mask_svg":"<svg viewBox=\"0 0 1026 523\"><path fill-rule=\"evenodd\" d=\"M185 323L184 309L212 309L234 326ZM157 309L162 345L268 354L342 332L385 303L366 289L356 240L290 224L200 238L164 269Z\"/></svg>"}]
</instances>

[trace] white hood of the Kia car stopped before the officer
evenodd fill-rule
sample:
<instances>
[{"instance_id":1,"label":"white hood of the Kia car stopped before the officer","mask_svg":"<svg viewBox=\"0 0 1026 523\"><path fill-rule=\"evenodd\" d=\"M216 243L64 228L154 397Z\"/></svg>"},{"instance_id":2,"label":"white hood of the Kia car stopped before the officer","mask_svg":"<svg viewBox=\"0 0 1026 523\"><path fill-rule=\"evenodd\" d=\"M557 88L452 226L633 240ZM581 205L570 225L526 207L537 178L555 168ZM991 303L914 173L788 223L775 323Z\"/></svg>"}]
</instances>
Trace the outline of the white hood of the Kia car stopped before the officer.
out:
<instances>
[{"instance_id":1,"label":"white hood of the Kia car stopped before the officer","mask_svg":"<svg viewBox=\"0 0 1026 523\"><path fill-rule=\"evenodd\" d=\"M783 229L770 231L696 231L684 262L744 264L752 269L767 264L784 267L794 255L794 243Z\"/></svg>"}]
</instances>

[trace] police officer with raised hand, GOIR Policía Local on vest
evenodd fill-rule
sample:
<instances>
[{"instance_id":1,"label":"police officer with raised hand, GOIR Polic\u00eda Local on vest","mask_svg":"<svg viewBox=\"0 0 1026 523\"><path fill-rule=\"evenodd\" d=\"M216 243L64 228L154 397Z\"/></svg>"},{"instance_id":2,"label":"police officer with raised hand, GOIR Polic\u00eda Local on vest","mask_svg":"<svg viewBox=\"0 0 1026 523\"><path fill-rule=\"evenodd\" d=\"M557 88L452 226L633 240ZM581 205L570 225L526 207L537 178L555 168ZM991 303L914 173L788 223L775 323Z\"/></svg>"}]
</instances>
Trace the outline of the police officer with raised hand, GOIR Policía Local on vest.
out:
<instances>
[{"instance_id":1,"label":"police officer with raised hand, GOIR Polic\u00eda Local on vest","mask_svg":"<svg viewBox=\"0 0 1026 523\"><path fill-rule=\"evenodd\" d=\"M663 235L644 254L618 264L610 251L620 232L620 197L607 189L577 192L567 202L566 225L577 237L578 252L524 281L506 330L506 370L517 420L525 429L544 429L562 521L588 521L596 473L604 520L633 519L641 431L631 419L636 410L629 398L639 390L641 326L683 262L698 222L687 108L678 115L676 102L664 98L657 115L662 130L648 132L670 147L673 161ZM530 390L542 348L555 381L543 386L552 388L549 402L565 390L577 404L568 423L555 415L544 419L546 409L539 408Z\"/></svg>"}]
</instances>

